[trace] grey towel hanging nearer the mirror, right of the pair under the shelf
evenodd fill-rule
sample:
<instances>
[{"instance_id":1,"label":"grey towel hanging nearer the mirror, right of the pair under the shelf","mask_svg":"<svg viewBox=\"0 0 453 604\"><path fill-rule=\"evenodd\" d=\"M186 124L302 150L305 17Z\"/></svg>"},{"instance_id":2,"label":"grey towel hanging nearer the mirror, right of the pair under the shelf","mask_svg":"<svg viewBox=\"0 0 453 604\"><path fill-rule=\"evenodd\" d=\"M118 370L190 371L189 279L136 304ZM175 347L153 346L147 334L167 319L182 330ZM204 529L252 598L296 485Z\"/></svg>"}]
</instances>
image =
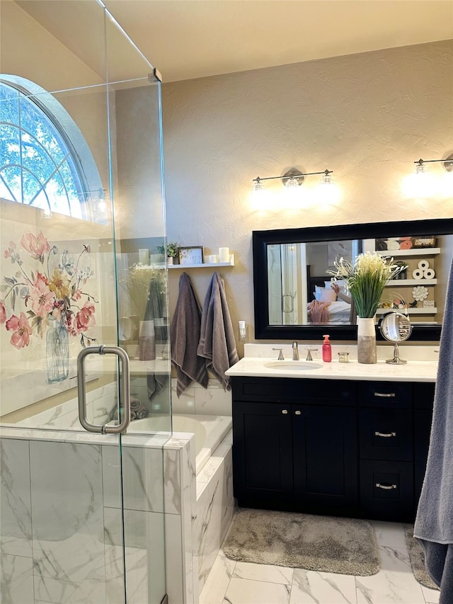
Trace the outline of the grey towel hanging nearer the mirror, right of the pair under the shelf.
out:
<instances>
[{"instance_id":1,"label":"grey towel hanging nearer the mirror, right of the pair under the shelf","mask_svg":"<svg viewBox=\"0 0 453 604\"><path fill-rule=\"evenodd\" d=\"M229 390L229 377L225 372L239 361L239 356L226 303L224 280L217 271L212 275L203 304L198 355L206 359L206 367L214 373L224 390Z\"/></svg>"}]
</instances>

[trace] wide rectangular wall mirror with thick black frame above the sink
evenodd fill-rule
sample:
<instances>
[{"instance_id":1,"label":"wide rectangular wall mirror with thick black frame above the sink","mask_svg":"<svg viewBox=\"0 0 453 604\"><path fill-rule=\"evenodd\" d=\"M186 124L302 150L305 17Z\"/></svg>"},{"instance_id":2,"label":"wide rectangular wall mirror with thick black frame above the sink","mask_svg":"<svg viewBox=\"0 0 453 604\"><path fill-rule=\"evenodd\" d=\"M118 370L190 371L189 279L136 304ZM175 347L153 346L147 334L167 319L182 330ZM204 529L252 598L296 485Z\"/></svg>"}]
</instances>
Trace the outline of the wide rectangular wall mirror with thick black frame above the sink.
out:
<instances>
[{"instance_id":1,"label":"wide rectangular wall mirror with thick black frame above the sink","mask_svg":"<svg viewBox=\"0 0 453 604\"><path fill-rule=\"evenodd\" d=\"M339 283L335 292L327 271L340 257L353 262L366 251L407 267L387 284L378 319L402 298L411 341L437 341L453 256L452 218L254 231L256 339L317 340L328 326L332 338L355 340L348 291ZM383 339L379 329L377 338Z\"/></svg>"}]
</instances>

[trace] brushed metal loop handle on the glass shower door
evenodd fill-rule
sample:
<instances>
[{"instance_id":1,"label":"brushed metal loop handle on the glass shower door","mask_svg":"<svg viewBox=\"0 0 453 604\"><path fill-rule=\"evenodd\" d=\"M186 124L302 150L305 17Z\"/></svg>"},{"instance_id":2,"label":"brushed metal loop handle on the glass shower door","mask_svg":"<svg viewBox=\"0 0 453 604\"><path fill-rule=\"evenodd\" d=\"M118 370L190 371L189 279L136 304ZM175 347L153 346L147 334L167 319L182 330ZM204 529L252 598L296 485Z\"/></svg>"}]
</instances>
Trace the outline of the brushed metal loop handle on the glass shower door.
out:
<instances>
[{"instance_id":1,"label":"brushed metal loop handle on the glass shower door","mask_svg":"<svg viewBox=\"0 0 453 604\"><path fill-rule=\"evenodd\" d=\"M85 390L85 357L88 355L117 355L121 360L121 392L122 392L122 421L116 426L103 426L90 423L86 418L86 390ZM79 397L79 421L88 432L101 434L119 434L124 432L130 424L130 368L129 357L120 346L88 346L79 352L77 357L77 391Z\"/></svg>"}]
</instances>

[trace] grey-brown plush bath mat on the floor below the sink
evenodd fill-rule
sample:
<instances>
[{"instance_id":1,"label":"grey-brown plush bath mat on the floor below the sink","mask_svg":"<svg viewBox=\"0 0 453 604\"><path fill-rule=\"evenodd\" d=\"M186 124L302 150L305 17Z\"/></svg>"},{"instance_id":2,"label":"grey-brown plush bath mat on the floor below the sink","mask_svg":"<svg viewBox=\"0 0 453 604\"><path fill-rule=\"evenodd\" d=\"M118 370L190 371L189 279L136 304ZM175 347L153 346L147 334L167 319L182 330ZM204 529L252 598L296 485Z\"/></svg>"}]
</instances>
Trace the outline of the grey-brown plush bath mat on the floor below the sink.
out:
<instances>
[{"instance_id":1,"label":"grey-brown plush bath mat on the floor below the sink","mask_svg":"<svg viewBox=\"0 0 453 604\"><path fill-rule=\"evenodd\" d=\"M379 571L372 525L352 518L239 508L222 549L241 562L357 576Z\"/></svg>"}]
</instances>

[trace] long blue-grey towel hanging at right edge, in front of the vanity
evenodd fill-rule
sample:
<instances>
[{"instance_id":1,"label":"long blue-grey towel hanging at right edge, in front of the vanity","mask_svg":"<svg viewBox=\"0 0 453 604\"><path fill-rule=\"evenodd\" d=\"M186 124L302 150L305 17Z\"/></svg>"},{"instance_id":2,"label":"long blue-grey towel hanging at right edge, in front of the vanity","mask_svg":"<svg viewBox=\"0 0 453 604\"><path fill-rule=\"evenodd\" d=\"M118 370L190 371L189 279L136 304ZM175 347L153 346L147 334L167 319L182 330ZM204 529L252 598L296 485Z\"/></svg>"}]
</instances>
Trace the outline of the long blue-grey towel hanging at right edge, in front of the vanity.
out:
<instances>
[{"instance_id":1,"label":"long blue-grey towel hanging at right edge, in front of the vanity","mask_svg":"<svg viewBox=\"0 0 453 604\"><path fill-rule=\"evenodd\" d=\"M440 336L430 448L414 537L440 587L440 604L453 602L453 263Z\"/></svg>"}]
</instances>

